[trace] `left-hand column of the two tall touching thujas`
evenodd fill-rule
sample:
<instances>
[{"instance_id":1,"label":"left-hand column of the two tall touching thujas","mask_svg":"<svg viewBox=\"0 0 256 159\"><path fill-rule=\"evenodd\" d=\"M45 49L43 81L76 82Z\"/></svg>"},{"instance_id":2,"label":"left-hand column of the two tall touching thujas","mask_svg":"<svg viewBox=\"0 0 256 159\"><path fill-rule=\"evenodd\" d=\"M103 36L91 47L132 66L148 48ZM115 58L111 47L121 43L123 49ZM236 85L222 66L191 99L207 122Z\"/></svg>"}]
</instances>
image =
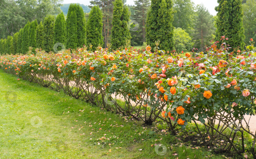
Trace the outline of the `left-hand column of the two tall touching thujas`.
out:
<instances>
[{"instance_id":1,"label":"left-hand column of the two tall touching thujas","mask_svg":"<svg viewBox=\"0 0 256 159\"><path fill-rule=\"evenodd\" d=\"M76 49L77 48L77 20L76 20L76 4L70 4L67 14L67 44L66 48Z\"/></svg>"}]
</instances>

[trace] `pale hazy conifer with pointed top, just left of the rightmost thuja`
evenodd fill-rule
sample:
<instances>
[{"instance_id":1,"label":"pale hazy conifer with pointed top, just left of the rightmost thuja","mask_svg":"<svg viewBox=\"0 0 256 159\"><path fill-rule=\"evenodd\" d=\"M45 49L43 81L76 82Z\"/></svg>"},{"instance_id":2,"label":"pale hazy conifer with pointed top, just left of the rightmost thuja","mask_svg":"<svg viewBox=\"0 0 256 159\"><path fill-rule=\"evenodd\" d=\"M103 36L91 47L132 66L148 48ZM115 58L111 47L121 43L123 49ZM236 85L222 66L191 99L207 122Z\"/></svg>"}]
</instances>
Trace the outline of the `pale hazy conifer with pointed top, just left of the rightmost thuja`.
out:
<instances>
[{"instance_id":1,"label":"pale hazy conifer with pointed top, just left of the rightmost thuja","mask_svg":"<svg viewBox=\"0 0 256 159\"><path fill-rule=\"evenodd\" d=\"M210 46L210 40L215 33L214 18L203 4L197 8L193 40L198 51L205 51L205 45Z\"/></svg>"}]
</instances>

